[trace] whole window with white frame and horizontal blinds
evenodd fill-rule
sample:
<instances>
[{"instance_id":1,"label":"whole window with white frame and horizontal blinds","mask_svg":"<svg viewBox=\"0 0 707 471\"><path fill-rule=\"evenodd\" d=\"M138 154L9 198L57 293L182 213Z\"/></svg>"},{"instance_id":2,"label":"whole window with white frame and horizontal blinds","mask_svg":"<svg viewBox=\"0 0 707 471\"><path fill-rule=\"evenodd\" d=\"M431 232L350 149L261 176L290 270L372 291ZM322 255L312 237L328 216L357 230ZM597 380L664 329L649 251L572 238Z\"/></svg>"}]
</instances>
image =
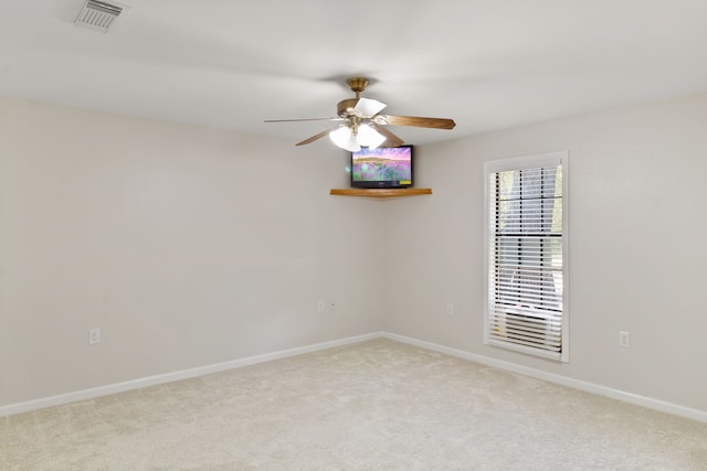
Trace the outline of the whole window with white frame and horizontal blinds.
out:
<instances>
[{"instance_id":1,"label":"whole window with white frame and horizontal blinds","mask_svg":"<svg viewBox=\"0 0 707 471\"><path fill-rule=\"evenodd\" d=\"M567 362L567 152L486 162L484 174L484 343Z\"/></svg>"}]
</instances>

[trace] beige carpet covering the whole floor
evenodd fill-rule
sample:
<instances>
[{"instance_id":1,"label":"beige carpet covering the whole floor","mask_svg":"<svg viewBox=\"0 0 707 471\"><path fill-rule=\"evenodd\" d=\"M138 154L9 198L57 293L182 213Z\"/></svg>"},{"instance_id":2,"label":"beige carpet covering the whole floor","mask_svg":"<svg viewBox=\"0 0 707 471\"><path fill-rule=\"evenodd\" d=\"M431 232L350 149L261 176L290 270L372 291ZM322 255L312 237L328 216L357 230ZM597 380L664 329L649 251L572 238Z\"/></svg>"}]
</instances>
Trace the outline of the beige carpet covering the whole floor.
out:
<instances>
[{"instance_id":1,"label":"beige carpet covering the whole floor","mask_svg":"<svg viewBox=\"0 0 707 471\"><path fill-rule=\"evenodd\" d=\"M374 340L0 418L2 470L707 470L707 424Z\"/></svg>"}]
</instances>

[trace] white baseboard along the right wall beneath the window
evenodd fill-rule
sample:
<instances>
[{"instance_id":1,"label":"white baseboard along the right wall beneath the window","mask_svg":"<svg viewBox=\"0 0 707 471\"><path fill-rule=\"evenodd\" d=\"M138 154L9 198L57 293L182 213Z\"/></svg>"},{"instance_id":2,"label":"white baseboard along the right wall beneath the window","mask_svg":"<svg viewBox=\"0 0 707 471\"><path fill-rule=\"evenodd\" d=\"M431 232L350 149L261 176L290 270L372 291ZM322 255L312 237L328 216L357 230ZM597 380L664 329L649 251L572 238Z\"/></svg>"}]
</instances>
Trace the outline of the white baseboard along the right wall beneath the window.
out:
<instances>
[{"instance_id":1,"label":"white baseboard along the right wall beneath the window","mask_svg":"<svg viewBox=\"0 0 707 471\"><path fill-rule=\"evenodd\" d=\"M598 394L600 396L611 397L612 399L623 400L624 403L634 404L636 406L643 406L650 409L659 410L662 413L673 414L680 417L687 417L693 420L707 422L707 411L705 410L692 409L689 407L678 406L677 404L666 403L664 400L653 399L650 397L640 396L637 394L626 393L624 390L613 389L611 387L587 383L553 373L547 373L541 370L535 370L515 363L505 362L503 360L496 360L488 356L478 355L475 353L465 352L463 350L452 349L449 346L439 345L436 343L425 342L404 335L383 332L382 336L384 336L386 339L394 340L397 342L408 343L410 345L420 346L422 349L432 350L439 353L444 353L446 355L469 360L472 362L481 363L483 365L492 366L498 370L505 370L525 376L545 379L550 383L560 384L562 386L572 387L574 389L585 390L588 393Z\"/></svg>"}]
</instances>

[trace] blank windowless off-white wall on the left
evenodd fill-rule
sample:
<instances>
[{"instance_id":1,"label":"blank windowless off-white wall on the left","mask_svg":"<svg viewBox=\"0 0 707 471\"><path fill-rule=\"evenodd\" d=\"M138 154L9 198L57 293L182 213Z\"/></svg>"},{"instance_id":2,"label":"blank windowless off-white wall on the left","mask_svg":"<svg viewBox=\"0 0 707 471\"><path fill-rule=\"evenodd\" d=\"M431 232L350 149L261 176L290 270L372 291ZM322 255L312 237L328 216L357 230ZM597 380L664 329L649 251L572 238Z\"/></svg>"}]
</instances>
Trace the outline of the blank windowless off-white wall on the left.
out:
<instances>
[{"instance_id":1,"label":"blank windowless off-white wall on the left","mask_svg":"<svg viewBox=\"0 0 707 471\"><path fill-rule=\"evenodd\" d=\"M0 99L0 406L379 331L346 159Z\"/></svg>"}]
</instances>

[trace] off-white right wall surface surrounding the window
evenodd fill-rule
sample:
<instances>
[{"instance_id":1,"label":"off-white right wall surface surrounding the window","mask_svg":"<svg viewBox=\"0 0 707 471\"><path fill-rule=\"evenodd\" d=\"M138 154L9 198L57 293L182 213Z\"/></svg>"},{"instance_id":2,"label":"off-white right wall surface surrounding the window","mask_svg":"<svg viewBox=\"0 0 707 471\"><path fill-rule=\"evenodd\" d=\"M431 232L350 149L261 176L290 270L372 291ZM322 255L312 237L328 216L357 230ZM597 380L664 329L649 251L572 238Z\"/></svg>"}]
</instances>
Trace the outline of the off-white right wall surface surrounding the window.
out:
<instances>
[{"instance_id":1,"label":"off-white right wall surface surrounding the window","mask_svg":"<svg viewBox=\"0 0 707 471\"><path fill-rule=\"evenodd\" d=\"M706 129L698 95L419 148L434 194L387 203L387 331L707 410ZM482 342L482 163L556 150L570 156L569 364Z\"/></svg>"}]
</instances>

